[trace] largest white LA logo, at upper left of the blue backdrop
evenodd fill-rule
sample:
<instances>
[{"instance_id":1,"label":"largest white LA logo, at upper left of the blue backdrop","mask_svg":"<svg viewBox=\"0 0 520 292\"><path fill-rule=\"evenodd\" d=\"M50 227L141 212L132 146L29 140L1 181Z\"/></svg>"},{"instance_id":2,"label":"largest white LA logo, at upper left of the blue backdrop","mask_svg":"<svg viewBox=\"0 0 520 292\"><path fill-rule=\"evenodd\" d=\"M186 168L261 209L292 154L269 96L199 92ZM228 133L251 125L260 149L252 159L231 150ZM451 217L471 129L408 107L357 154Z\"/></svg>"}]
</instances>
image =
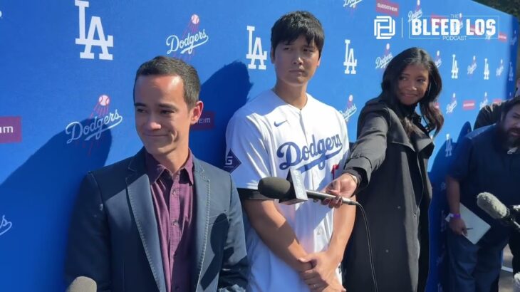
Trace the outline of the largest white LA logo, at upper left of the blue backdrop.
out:
<instances>
[{"instance_id":1,"label":"largest white LA logo, at upper left of the blue backdrop","mask_svg":"<svg viewBox=\"0 0 520 292\"><path fill-rule=\"evenodd\" d=\"M113 55L108 53L108 48L113 48L114 37L108 35L105 38L105 31L103 31L103 24L101 24L101 18L99 16L90 17L90 25L88 26L88 33L85 28L85 10L89 6L88 1L75 0L74 5L79 8L79 38L76 38L76 45L85 46L83 52L80 52L80 58L82 59L93 59L94 53L92 53L93 46L99 46L101 53L98 54L100 60L112 60ZM95 34L99 38L94 38ZM86 35L86 37L85 37Z\"/></svg>"}]
</instances>

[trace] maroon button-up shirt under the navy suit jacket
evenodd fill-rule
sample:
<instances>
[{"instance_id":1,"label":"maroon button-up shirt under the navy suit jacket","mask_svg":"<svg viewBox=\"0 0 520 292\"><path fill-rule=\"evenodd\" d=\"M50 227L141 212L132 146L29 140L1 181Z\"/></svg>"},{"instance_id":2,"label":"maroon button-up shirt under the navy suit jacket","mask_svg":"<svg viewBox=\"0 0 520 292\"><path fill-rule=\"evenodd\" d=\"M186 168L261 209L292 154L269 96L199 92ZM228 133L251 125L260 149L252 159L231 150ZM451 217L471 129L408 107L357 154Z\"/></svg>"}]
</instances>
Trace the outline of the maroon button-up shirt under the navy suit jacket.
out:
<instances>
[{"instance_id":1,"label":"maroon button-up shirt under the navy suit jacket","mask_svg":"<svg viewBox=\"0 0 520 292\"><path fill-rule=\"evenodd\" d=\"M192 153L189 152L184 166L174 174L149 153L146 154L146 167L160 237L166 291L191 291L195 241Z\"/></svg>"}]
</instances>

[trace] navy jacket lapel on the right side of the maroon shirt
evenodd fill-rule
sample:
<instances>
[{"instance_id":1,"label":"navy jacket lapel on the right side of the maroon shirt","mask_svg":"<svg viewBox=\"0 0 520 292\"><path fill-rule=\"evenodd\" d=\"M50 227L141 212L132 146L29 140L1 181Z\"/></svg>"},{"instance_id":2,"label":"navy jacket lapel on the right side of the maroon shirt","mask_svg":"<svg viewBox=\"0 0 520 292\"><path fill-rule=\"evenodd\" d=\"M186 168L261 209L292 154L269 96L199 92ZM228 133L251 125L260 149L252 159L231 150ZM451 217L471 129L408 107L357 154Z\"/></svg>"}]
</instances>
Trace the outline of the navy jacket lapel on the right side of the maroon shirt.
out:
<instances>
[{"instance_id":1,"label":"navy jacket lapel on the right side of the maroon shirt","mask_svg":"<svg viewBox=\"0 0 520 292\"><path fill-rule=\"evenodd\" d=\"M195 222L195 266L194 273L192 273L192 287L194 291L199 291L197 288L200 283L202 272L202 264L204 264L204 255L206 254L206 246L208 240L208 226L209 226L209 179L204 175L204 168L199 160L193 157L194 164L194 184L195 184L195 200L197 202L196 222Z\"/></svg>"}]
</instances>

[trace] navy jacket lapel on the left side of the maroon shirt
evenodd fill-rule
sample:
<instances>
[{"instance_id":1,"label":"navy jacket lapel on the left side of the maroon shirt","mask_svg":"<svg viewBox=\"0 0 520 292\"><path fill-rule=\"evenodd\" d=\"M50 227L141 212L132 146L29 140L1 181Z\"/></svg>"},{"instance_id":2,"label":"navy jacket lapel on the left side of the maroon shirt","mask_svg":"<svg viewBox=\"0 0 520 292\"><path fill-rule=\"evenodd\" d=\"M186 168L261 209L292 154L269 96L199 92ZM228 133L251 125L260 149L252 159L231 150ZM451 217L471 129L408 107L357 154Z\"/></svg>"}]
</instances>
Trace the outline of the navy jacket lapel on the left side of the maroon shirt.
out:
<instances>
[{"instance_id":1,"label":"navy jacket lapel on the left side of the maroon shirt","mask_svg":"<svg viewBox=\"0 0 520 292\"><path fill-rule=\"evenodd\" d=\"M166 292L165 273L159 242L159 231L155 219L155 209L150 192L150 180L146 174L145 152L141 150L135 155L128 167L130 175L126 178L128 200L139 231L146 258L152 269L157 288Z\"/></svg>"}]
</instances>

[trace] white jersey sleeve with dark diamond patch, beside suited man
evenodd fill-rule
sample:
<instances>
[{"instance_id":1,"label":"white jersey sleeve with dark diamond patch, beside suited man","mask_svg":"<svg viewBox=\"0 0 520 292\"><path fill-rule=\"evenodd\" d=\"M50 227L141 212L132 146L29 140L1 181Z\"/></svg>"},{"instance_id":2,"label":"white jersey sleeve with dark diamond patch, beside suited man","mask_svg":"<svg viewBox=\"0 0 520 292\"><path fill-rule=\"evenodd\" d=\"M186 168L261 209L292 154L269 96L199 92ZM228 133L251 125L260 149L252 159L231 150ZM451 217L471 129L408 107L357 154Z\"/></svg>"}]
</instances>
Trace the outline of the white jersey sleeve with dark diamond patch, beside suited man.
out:
<instances>
[{"instance_id":1,"label":"white jersey sleeve with dark diamond patch, beside suited man","mask_svg":"<svg viewBox=\"0 0 520 292\"><path fill-rule=\"evenodd\" d=\"M224 170L231 173L241 199L269 199L258 192L258 182L271 176L265 130L251 115L234 115L226 130Z\"/></svg>"}]
</instances>

